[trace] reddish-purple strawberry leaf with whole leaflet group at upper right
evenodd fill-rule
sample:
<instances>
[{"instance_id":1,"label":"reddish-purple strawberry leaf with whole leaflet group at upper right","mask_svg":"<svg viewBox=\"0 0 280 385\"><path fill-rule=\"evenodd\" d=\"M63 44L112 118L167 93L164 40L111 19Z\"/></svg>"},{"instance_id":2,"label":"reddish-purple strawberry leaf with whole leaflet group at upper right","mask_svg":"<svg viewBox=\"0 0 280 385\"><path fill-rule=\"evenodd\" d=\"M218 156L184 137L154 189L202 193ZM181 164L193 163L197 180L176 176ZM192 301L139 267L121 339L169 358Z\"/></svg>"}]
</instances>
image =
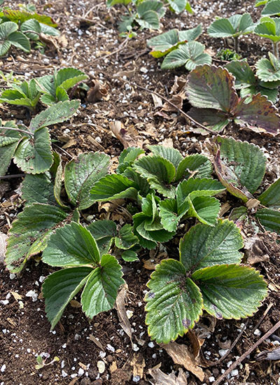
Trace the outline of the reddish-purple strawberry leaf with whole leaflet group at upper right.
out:
<instances>
[{"instance_id":1,"label":"reddish-purple strawberry leaf with whole leaflet group at upper right","mask_svg":"<svg viewBox=\"0 0 280 385\"><path fill-rule=\"evenodd\" d=\"M197 66L188 76L186 95L193 106L189 115L217 132L231 120L257 132L279 132L280 117L272 103L261 94L253 95L251 102L239 98L235 78L221 66Z\"/></svg>"}]
</instances>

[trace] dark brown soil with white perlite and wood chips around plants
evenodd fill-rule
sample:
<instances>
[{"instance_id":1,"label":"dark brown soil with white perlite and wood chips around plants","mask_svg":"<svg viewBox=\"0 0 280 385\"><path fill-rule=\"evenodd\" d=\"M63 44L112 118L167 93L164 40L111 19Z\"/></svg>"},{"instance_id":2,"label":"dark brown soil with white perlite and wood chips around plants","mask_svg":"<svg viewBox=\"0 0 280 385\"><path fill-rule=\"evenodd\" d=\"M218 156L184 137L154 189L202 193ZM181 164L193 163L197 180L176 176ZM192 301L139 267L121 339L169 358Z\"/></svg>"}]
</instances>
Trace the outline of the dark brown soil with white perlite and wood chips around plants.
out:
<instances>
[{"instance_id":1,"label":"dark brown soil with white perlite and wood chips around plants","mask_svg":"<svg viewBox=\"0 0 280 385\"><path fill-rule=\"evenodd\" d=\"M17 3L20 1L6 1L5 5L15 8ZM167 111L164 116L157 115L160 109L155 107L152 94L144 90L148 88L170 98L175 76L187 76L183 69L161 70L160 59L148 55L146 39L155 36L156 31L138 31L136 38L124 43L124 39L118 36L117 29L118 19L123 12L122 6L108 9L104 1L61 0L49 3L38 0L34 3L39 13L51 15L58 23L63 36L59 49L47 48L43 54L38 50L31 50L30 54L25 54L12 48L6 57L0 58L1 71L9 73L12 70L16 76L29 79L52 73L54 69L64 66L75 66L85 71L95 82L98 80L104 92L103 99L94 103L89 102L84 94L80 94L82 105L78 115L71 118L70 123L52 127L55 149L65 162L85 151L104 151L111 155L115 167L117 157L123 150L124 140L123 137L116 137L110 129L110 125L116 120L123 125L125 140L129 144L143 144L145 148L148 144L173 142L174 147L183 155L207 151L206 143L214 139L211 135L195 134L193 125L176 111ZM260 17L260 8L254 8L254 3L254 0L192 1L193 15L176 15L167 10L162 18L161 31L174 27L188 29L200 22L205 31L215 16L229 17L233 13L245 11L251 13L256 21ZM205 32L200 41L207 45L214 59L221 45L232 45L231 41L209 38ZM269 43L253 35L241 38L240 47L241 55L248 57L250 64L270 50ZM217 61L216 64L220 63ZM1 81L0 85L4 84ZM186 102L183 109L189 109ZM23 123L30 120L27 109L20 107L1 105L0 115L3 120L21 120ZM279 178L278 139L241 129L237 125L227 127L225 134L258 144L264 149L268 171L262 187ZM18 173L18 169L11 165L8 174ZM21 181L22 177L19 176L1 184L3 191L0 226L3 233L8 232L10 223L22 210ZM232 200L232 197L227 195L225 200L231 207L235 207L236 200ZM106 213L102 208L98 210L94 206L85 211L83 216L86 219L92 214L120 220L116 208ZM230 210L224 217L229 214ZM244 237L255 236L250 222L243 224L242 232ZM246 352L279 321L280 237L260 232L258 239L258 251L246 251L248 259L245 258L244 262L250 262L260 270L269 283L269 295L259 311L248 320L216 321L214 329L207 332L200 352L204 363L204 381L197 379L191 372L186 372L190 385L212 384L228 369L232 361ZM176 241L174 246L177 246ZM54 270L37 258L28 262L20 276L15 276L6 271L0 262L0 385L144 385L155 384L148 372L155 365L161 364L160 369L165 373L172 370L177 372L179 365L174 364L162 346L151 343L146 331L144 295L151 270L146 268L148 264L144 261L157 260L157 253L158 251L143 253L139 256L140 262L123 264L124 279L128 287L126 310L131 316L133 330L132 342L120 326L116 309L90 320L81 311L78 296L66 308L55 330L50 331L50 324L45 317L41 284L44 277ZM205 323L209 326L209 322L213 320L202 317L195 327L196 332ZM246 328L241 339L228 356L217 365L209 365L209 362L221 358L223 349L228 349L244 323ZM222 384L279 384L279 361L256 358L260 351L271 350L279 341L277 330L242 361ZM176 342L191 346L188 335L180 337ZM39 354L47 358L45 363L50 363L55 356L59 361L36 370L36 356ZM104 372L99 369L99 361L105 364Z\"/></svg>"}]
</instances>

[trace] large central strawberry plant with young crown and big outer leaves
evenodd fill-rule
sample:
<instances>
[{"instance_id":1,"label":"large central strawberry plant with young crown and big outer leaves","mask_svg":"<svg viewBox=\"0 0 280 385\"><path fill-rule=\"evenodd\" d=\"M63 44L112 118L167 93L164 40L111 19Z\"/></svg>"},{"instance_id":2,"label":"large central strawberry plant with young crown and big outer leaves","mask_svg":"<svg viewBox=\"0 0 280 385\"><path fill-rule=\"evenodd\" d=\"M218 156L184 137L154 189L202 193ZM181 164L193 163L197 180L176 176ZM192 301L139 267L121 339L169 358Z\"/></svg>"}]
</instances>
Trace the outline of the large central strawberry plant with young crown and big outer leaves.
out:
<instances>
[{"instance_id":1,"label":"large central strawberry plant with young crown and big outer leaves","mask_svg":"<svg viewBox=\"0 0 280 385\"><path fill-rule=\"evenodd\" d=\"M82 288L80 302L87 316L111 309L124 283L119 256L136 260L140 245L153 248L169 241L188 217L202 224L181 239L180 260L160 262L148 283L151 338L164 343L176 339L193 328L203 309L218 318L251 315L265 297L266 283L258 272L239 265L239 229L218 219L220 205L213 195L223 186L209 177L209 160L199 154L183 158L174 148L150 149L152 155L142 158L140 148L124 150L116 174L108 174L108 155L79 155L65 166L64 198L58 155L48 172L25 177L26 206L9 231L6 264L19 272L28 258L43 251L43 262L62 267L43 283L52 328ZM79 223L79 212L94 202L119 198L134 202L127 204L127 210L136 212L133 225L117 231L113 221Z\"/></svg>"}]
</instances>

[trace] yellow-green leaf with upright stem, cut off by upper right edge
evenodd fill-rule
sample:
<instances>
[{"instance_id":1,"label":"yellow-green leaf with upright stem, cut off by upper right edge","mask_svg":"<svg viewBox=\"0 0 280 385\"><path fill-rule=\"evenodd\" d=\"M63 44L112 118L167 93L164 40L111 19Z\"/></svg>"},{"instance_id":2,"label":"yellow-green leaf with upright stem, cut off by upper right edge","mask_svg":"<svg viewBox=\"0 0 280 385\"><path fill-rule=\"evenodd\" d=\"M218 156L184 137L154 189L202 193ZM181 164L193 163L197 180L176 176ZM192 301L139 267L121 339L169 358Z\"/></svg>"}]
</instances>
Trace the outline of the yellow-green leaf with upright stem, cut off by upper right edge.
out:
<instances>
[{"instance_id":1,"label":"yellow-green leaf with upright stem, cut off by upper right edge","mask_svg":"<svg viewBox=\"0 0 280 385\"><path fill-rule=\"evenodd\" d=\"M255 26L255 34L264 38L269 38L272 41L274 56L279 59L278 43L280 41L280 20L279 18L269 18L265 16L260 18L260 21Z\"/></svg>"}]
</instances>

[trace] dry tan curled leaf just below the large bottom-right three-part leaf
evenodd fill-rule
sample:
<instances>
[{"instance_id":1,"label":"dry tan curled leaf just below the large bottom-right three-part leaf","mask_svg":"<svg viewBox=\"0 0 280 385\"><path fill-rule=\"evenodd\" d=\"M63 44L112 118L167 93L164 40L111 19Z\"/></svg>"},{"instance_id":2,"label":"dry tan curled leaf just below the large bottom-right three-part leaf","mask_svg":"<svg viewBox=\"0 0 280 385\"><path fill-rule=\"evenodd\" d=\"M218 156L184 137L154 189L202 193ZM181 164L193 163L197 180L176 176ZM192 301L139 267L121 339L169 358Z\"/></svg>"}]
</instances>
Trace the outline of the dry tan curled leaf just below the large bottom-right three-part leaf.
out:
<instances>
[{"instance_id":1,"label":"dry tan curled leaf just below the large bottom-right three-part leaf","mask_svg":"<svg viewBox=\"0 0 280 385\"><path fill-rule=\"evenodd\" d=\"M172 360L174 360L174 363L182 365L186 368L186 370L195 374L200 381L203 381L204 372L202 368L197 365L195 356L190 351L188 346L177 344L176 342L169 342L167 345L162 345L162 348L167 351Z\"/></svg>"}]
</instances>

